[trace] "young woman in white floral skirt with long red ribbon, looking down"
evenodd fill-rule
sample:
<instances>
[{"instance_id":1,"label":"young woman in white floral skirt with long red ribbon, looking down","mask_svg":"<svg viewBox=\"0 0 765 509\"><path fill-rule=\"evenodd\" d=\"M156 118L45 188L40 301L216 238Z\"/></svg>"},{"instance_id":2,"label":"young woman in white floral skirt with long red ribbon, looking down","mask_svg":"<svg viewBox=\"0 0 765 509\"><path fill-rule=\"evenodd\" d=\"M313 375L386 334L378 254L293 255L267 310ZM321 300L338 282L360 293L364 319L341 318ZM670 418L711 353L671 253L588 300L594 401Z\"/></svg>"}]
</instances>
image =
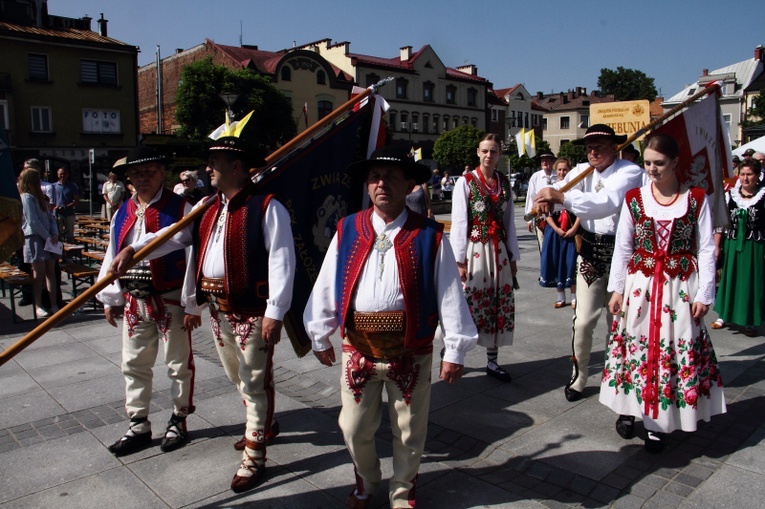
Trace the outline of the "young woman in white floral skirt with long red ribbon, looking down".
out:
<instances>
[{"instance_id":1,"label":"young woman in white floral skirt with long red ribbon, looking down","mask_svg":"<svg viewBox=\"0 0 765 509\"><path fill-rule=\"evenodd\" d=\"M648 138L650 183L627 192L608 285L616 318L600 402L620 414L622 438L643 419L649 452L662 450L662 433L695 431L699 419L726 411L703 322L715 293L711 214L704 191L678 181L678 154L671 137Z\"/></svg>"}]
</instances>

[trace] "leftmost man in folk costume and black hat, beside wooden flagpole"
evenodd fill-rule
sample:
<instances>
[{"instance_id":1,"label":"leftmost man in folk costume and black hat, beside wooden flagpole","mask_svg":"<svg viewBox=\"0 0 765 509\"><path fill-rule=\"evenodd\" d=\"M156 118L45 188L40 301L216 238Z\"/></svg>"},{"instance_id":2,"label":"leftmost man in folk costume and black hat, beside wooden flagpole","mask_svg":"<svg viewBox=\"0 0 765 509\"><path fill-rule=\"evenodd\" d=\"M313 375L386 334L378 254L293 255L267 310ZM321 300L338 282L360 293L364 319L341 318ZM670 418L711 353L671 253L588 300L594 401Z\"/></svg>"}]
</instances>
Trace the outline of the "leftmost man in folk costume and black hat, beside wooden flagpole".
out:
<instances>
[{"instance_id":1,"label":"leftmost man in folk costume and black hat, beside wooden flagpole","mask_svg":"<svg viewBox=\"0 0 765 509\"><path fill-rule=\"evenodd\" d=\"M114 214L109 247L99 279L123 247L177 222L191 210L183 198L164 186L166 159L154 149L139 146L130 151L123 167L136 188ZM161 258L142 261L98 293L106 320L117 326L124 308L122 328L122 373L125 376L125 408L130 418L127 433L109 446L115 456L124 456L151 445L148 420L152 391L152 368L159 345L170 378L173 414L161 448L169 452L188 441L186 416L194 412L194 358L191 331L201 324L201 306L181 304L187 253L182 247Z\"/></svg>"}]
</instances>

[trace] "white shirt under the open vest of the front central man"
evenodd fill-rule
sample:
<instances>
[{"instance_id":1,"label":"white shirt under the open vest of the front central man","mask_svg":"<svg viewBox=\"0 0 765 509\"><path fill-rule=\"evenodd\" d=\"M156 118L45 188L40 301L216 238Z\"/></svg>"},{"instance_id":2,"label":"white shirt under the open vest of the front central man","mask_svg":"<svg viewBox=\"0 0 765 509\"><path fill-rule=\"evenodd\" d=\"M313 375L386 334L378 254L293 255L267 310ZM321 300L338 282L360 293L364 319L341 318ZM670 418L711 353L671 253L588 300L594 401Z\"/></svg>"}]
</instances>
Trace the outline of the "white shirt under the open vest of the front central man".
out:
<instances>
[{"instance_id":1,"label":"white shirt under the open vest of the front central man","mask_svg":"<svg viewBox=\"0 0 765 509\"><path fill-rule=\"evenodd\" d=\"M394 242L407 217L408 211L404 209L404 212L394 221L386 225L382 218L372 213L375 234L384 232L391 242ZM313 350L317 352L332 348L329 336L337 330L339 325L336 309L338 299L335 296L337 250L337 233L335 233L303 313L306 332L313 343ZM404 309L404 296L401 293L398 264L393 247L385 251L382 257L382 278L379 272L380 265L380 254L373 249L364 264L352 297L351 307L354 310L377 312ZM446 347L444 361L463 365L465 353L478 341L478 331L462 293L457 264L445 236L441 239L441 245L438 248L433 275L436 282L436 298L439 303L438 316ZM416 311L413 310L413 312Z\"/></svg>"}]
</instances>

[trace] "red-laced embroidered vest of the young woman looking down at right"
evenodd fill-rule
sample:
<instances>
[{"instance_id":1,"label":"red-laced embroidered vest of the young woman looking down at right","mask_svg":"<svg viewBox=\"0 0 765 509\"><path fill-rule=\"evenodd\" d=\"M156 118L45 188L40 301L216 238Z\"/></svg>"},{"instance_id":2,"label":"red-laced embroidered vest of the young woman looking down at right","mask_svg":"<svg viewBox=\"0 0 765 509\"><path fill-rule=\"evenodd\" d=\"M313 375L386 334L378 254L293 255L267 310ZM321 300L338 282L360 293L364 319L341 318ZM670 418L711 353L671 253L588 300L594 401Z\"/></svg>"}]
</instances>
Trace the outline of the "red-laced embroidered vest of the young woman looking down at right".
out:
<instances>
[{"instance_id":1,"label":"red-laced embroidered vest of the young woman looking down at right","mask_svg":"<svg viewBox=\"0 0 765 509\"><path fill-rule=\"evenodd\" d=\"M662 263L664 272L673 279L679 277L685 280L696 272L696 230L704 190L694 187L688 192L688 213L673 220L666 251L658 248L654 220L645 213L640 188L628 191L626 200L635 222L635 250L627 264L627 271L630 274L641 271L650 277L657 263Z\"/></svg>"}]
</instances>

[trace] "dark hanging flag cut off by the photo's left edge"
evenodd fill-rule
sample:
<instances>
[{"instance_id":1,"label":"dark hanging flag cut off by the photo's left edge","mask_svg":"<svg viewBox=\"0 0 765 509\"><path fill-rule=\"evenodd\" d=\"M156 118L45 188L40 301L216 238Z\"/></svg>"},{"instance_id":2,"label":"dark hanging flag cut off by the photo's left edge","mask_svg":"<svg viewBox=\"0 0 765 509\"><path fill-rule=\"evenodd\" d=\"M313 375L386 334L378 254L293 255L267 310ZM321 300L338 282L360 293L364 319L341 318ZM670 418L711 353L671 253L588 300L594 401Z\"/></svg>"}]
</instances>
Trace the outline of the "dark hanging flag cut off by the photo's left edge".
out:
<instances>
[{"instance_id":1,"label":"dark hanging flag cut off by the photo's left edge","mask_svg":"<svg viewBox=\"0 0 765 509\"><path fill-rule=\"evenodd\" d=\"M0 261L7 260L24 245L21 232L21 197L16 187L11 150L0 129Z\"/></svg>"}]
</instances>

